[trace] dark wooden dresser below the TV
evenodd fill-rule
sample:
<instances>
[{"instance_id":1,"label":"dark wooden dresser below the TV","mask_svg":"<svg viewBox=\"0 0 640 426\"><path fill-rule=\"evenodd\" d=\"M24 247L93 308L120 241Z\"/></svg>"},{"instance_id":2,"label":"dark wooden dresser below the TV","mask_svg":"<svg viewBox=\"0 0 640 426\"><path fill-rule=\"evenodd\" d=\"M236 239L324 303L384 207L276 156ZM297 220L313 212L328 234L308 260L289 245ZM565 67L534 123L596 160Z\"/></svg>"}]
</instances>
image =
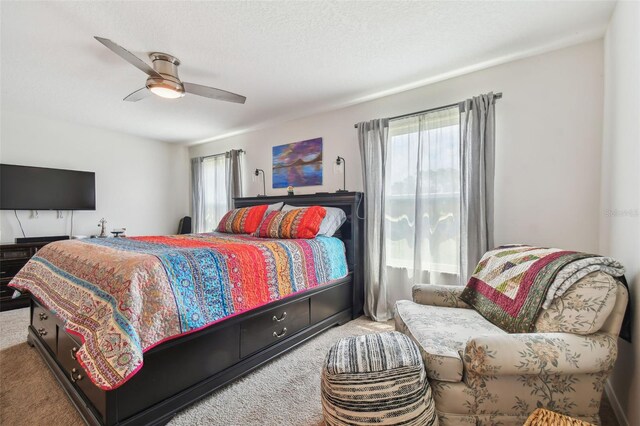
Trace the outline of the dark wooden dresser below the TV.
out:
<instances>
[{"instance_id":1,"label":"dark wooden dresser below the TV","mask_svg":"<svg viewBox=\"0 0 640 426\"><path fill-rule=\"evenodd\" d=\"M29 306L29 296L12 299L14 289L7 284L31 257L48 242L0 244L0 311Z\"/></svg>"}]
</instances>

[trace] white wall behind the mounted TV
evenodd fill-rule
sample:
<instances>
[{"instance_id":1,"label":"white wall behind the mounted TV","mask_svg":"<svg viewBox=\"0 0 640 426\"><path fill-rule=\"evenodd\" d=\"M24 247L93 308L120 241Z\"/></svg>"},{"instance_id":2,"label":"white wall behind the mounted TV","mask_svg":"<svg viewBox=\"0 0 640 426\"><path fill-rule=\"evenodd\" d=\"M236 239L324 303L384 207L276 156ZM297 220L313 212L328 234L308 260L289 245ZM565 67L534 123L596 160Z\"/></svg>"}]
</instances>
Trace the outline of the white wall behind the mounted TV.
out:
<instances>
[{"instance_id":1,"label":"white wall behind the mounted TV","mask_svg":"<svg viewBox=\"0 0 640 426\"><path fill-rule=\"evenodd\" d=\"M128 235L175 234L189 214L189 163L184 146L141 139L93 127L2 109L0 162L96 173L96 210L77 211L74 234L127 228ZM64 235L70 217L18 212L27 236ZM0 239L13 242L20 228L13 211L0 212Z\"/></svg>"}]
</instances>

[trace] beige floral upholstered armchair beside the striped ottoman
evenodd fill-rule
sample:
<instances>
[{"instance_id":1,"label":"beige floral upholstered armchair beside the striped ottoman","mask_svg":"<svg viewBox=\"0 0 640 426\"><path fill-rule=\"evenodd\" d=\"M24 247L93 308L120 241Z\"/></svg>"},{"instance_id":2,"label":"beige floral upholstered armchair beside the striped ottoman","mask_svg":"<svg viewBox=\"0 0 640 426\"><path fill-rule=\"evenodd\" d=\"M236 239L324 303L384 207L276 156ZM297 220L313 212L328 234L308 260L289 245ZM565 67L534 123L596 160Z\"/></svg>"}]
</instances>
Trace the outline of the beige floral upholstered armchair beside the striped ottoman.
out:
<instances>
[{"instance_id":1,"label":"beige floral upholstered armchair beside the striped ottoman","mask_svg":"<svg viewBox=\"0 0 640 426\"><path fill-rule=\"evenodd\" d=\"M538 407L599 424L628 294L593 272L509 334L460 299L463 287L417 285L396 329L419 346L443 425L522 425Z\"/></svg>"}]
</instances>

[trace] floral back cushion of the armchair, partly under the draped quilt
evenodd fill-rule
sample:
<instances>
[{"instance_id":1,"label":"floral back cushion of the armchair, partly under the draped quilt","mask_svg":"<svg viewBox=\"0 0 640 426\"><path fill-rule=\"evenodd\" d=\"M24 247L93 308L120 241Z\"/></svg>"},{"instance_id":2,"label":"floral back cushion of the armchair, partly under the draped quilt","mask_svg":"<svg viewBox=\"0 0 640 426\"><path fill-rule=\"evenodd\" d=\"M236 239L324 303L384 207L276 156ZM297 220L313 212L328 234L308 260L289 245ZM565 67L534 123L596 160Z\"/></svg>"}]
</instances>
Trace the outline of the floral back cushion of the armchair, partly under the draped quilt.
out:
<instances>
[{"instance_id":1,"label":"floral back cushion of the armchair, partly under the draped quilt","mask_svg":"<svg viewBox=\"0 0 640 426\"><path fill-rule=\"evenodd\" d=\"M535 331L592 334L602 328L616 303L617 282L597 271L586 275L562 295L549 309L542 309Z\"/></svg>"}]
</instances>

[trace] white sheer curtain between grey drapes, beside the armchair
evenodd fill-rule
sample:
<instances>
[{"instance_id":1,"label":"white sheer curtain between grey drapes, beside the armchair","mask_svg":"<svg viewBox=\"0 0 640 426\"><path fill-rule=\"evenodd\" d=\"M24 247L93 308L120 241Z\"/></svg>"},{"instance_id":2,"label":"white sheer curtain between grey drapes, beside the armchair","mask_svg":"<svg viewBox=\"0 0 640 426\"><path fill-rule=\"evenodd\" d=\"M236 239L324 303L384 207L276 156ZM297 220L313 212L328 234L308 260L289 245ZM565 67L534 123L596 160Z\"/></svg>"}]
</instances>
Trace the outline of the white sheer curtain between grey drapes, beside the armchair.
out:
<instances>
[{"instance_id":1,"label":"white sheer curtain between grey drapes, beside the armchair","mask_svg":"<svg viewBox=\"0 0 640 426\"><path fill-rule=\"evenodd\" d=\"M457 106L389 123L385 179L387 303L418 283L458 284L460 112Z\"/></svg>"}]
</instances>

